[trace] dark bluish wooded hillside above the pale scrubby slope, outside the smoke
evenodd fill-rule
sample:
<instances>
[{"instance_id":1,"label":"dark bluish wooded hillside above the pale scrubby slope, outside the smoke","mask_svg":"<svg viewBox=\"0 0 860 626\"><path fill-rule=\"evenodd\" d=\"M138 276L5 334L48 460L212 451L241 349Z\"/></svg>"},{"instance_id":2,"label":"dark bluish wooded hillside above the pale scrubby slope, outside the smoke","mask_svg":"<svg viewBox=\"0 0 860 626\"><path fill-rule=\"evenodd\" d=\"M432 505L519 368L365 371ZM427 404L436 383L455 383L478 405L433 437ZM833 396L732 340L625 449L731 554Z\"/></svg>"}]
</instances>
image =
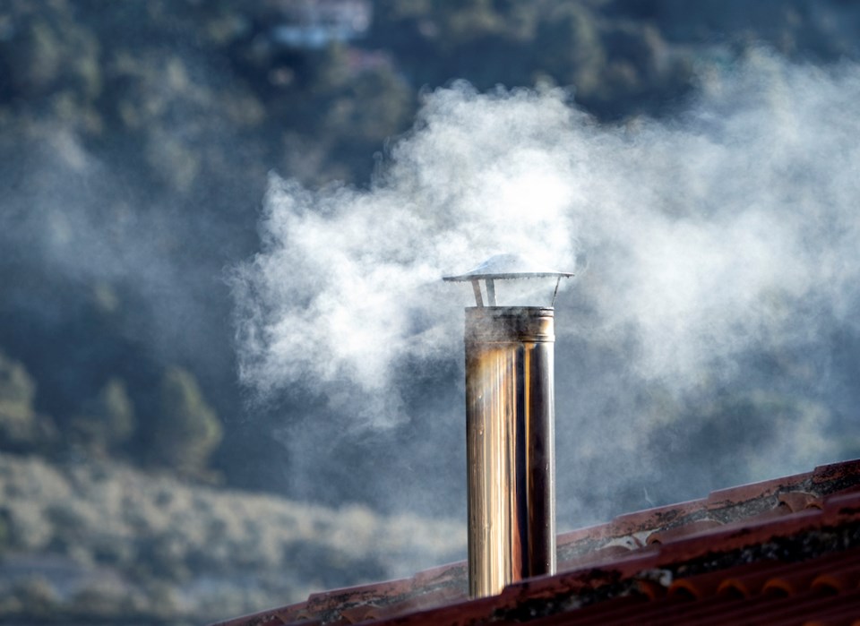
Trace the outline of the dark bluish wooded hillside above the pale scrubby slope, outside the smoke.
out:
<instances>
[{"instance_id":1,"label":"dark bluish wooded hillside above the pale scrubby slope, outside the smoke","mask_svg":"<svg viewBox=\"0 0 860 626\"><path fill-rule=\"evenodd\" d=\"M696 67L753 44L856 58L858 15L801 0L7 0L0 446L289 491L248 460L281 448L244 409L225 283L256 249L268 171L370 184L421 90L455 78L568 86L598 120L667 115ZM297 390L276 412L315 401Z\"/></svg>"}]
</instances>

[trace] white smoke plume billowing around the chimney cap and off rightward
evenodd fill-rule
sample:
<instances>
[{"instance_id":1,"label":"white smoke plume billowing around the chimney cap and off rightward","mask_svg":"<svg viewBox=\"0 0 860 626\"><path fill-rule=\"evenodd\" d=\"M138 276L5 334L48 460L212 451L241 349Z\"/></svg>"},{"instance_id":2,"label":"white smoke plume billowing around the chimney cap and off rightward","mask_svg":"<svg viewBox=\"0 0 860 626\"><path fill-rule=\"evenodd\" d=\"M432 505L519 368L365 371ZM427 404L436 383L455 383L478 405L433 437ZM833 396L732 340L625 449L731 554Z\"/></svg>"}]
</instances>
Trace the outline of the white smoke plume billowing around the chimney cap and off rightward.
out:
<instances>
[{"instance_id":1,"label":"white smoke plume billowing around the chimney cap and off rightward","mask_svg":"<svg viewBox=\"0 0 860 626\"><path fill-rule=\"evenodd\" d=\"M272 176L261 252L232 276L240 377L359 430L408 422L404 364L461 360L467 301L441 277L517 252L578 274L556 303L561 510L834 460L856 394L833 337L860 330L857 102L856 64L762 51L702 67L660 120L597 124L556 89L428 93L369 188Z\"/></svg>"}]
</instances>

